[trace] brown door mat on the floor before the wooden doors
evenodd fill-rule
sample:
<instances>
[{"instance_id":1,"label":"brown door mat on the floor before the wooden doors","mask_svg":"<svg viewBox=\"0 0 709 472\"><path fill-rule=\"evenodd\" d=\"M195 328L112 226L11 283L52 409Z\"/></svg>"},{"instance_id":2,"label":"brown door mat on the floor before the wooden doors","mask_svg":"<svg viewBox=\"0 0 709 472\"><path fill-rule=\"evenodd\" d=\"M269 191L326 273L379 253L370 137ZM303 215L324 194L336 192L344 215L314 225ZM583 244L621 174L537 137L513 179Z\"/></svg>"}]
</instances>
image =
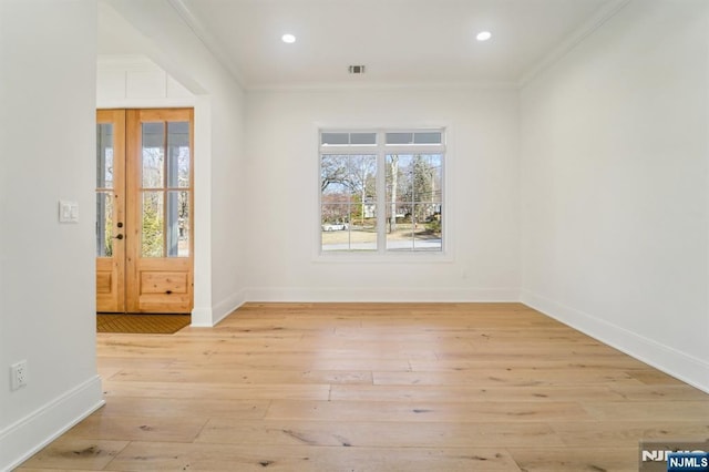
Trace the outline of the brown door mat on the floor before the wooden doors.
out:
<instances>
[{"instance_id":1,"label":"brown door mat on the floor before the wooden doors","mask_svg":"<svg viewBox=\"0 0 709 472\"><path fill-rule=\"evenodd\" d=\"M189 315L96 315L96 332L173 335L189 326Z\"/></svg>"}]
</instances>

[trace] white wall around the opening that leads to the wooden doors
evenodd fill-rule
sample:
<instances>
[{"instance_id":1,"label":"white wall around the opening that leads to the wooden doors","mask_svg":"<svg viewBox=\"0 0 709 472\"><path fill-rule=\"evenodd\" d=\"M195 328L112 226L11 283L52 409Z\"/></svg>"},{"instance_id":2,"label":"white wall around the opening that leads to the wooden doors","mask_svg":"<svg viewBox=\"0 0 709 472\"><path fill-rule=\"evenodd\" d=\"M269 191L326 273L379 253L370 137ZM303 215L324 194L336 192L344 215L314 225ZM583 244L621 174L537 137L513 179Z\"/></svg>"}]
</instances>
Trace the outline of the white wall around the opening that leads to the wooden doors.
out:
<instances>
[{"instance_id":1,"label":"white wall around the opening that leads to the wooden doors","mask_svg":"<svg viewBox=\"0 0 709 472\"><path fill-rule=\"evenodd\" d=\"M168 1L105 0L100 12L100 24L110 29L110 34L100 35L102 51L145 54L174 78L173 86L181 84L195 98L193 326L213 326L244 302L248 248L242 227L243 206L235 204L244 198L246 179L243 91ZM102 80L109 76L106 72ZM146 84L145 79L136 83ZM179 91L167 92L166 102L131 95L114 105L179 103Z\"/></svg>"}]
</instances>

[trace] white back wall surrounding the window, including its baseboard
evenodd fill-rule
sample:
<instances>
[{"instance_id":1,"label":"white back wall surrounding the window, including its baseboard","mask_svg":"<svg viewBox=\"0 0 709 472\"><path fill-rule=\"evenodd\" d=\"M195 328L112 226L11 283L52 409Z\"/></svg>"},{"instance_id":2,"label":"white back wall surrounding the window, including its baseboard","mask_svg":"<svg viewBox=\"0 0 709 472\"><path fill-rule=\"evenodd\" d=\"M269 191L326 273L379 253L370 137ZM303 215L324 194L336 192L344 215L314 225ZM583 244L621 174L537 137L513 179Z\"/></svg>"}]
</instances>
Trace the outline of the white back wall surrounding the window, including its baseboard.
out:
<instances>
[{"instance_id":1,"label":"white back wall surrounding the window, including its baseboard","mask_svg":"<svg viewBox=\"0 0 709 472\"><path fill-rule=\"evenodd\" d=\"M246 113L249 300L518 299L516 90L253 91ZM450 257L318 258L318 126L446 126Z\"/></svg>"}]
</instances>

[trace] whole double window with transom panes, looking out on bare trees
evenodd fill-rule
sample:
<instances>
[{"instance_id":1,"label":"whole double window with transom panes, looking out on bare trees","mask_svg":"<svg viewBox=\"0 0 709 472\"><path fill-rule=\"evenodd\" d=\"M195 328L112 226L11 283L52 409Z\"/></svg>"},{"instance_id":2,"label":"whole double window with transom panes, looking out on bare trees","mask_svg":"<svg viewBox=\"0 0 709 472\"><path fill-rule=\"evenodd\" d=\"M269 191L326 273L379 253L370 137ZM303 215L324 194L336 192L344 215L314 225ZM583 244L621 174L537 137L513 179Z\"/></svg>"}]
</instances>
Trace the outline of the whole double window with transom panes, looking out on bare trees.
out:
<instances>
[{"instance_id":1,"label":"whole double window with transom panes, looking out on bare trees","mask_svg":"<svg viewBox=\"0 0 709 472\"><path fill-rule=\"evenodd\" d=\"M322 253L443 250L443 130L321 131Z\"/></svg>"}]
</instances>

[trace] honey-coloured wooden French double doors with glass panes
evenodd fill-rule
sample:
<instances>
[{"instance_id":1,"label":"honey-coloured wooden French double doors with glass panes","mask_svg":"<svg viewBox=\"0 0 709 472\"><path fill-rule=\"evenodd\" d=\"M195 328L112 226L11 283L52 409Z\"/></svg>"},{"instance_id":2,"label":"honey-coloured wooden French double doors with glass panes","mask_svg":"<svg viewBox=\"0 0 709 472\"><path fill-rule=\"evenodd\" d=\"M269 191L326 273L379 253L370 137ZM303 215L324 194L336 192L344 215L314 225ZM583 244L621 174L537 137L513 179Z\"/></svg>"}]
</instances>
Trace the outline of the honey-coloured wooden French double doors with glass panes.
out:
<instances>
[{"instance_id":1,"label":"honey-coloured wooden French double doors with glass panes","mask_svg":"<svg viewBox=\"0 0 709 472\"><path fill-rule=\"evenodd\" d=\"M193 307L193 110L96 113L96 311Z\"/></svg>"}]
</instances>

